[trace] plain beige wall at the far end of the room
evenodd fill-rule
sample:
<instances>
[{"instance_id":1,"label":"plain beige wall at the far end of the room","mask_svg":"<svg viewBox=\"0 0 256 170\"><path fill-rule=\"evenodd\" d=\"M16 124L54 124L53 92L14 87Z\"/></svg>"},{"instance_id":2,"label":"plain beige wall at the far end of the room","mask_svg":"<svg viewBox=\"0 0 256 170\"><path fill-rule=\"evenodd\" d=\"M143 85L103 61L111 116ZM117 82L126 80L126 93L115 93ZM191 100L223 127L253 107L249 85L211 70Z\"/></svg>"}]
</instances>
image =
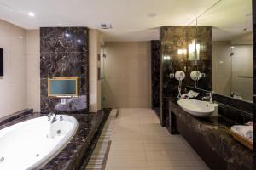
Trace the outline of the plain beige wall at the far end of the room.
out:
<instances>
[{"instance_id":1,"label":"plain beige wall at the far end of the room","mask_svg":"<svg viewBox=\"0 0 256 170\"><path fill-rule=\"evenodd\" d=\"M151 107L150 42L106 42L105 107Z\"/></svg>"}]
</instances>

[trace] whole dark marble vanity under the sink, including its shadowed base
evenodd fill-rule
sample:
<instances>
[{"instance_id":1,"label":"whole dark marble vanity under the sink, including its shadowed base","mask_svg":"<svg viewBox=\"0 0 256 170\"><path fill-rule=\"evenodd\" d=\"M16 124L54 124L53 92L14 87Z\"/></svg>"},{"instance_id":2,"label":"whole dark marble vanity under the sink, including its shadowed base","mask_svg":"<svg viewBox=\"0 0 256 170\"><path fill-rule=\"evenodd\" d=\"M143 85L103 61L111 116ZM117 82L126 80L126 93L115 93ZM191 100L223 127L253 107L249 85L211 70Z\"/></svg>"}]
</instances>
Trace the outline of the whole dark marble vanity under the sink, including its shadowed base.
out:
<instances>
[{"instance_id":1,"label":"whole dark marble vanity under the sink, including its shadowed base","mask_svg":"<svg viewBox=\"0 0 256 170\"><path fill-rule=\"evenodd\" d=\"M237 123L225 116L199 118L166 98L172 133L181 133L211 169L253 170L253 151L238 143L229 133Z\"/></svg>"}]
</instances>

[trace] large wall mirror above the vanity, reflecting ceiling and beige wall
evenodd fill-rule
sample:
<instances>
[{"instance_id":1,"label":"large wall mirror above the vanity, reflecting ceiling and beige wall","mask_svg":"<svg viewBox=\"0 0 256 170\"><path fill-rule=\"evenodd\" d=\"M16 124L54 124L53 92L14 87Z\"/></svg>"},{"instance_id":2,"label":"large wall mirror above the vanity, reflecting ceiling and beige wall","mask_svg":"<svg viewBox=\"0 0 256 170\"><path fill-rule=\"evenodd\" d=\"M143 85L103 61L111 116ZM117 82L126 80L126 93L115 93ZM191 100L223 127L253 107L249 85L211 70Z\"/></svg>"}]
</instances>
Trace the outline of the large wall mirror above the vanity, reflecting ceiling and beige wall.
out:
<instances>
[{"instance_id":1,"label":"large wall mirror above the vanity, reflecting ceiling and beige wall","mask_svg":"<svg viewBox=\"0 0 256 170\"><path fill-rule=\"evenodd\" d=\"M210 88L217 94L250 102L253 101L252 20L252 0L222 0L201 14L196 24L192 23L198 28L195 42L197 49L194 50L200 48L199 56L195 59L198 71L207 64L201 59L201 54L212 54L212 65L208 65L212 68ZM201 29L203 26L212 26L211 54L203 52L206 45L202 43L205 37ZM200 63L196 61L198 59ZM204 78L198 80L199 88L209 88L204 81Z\"/></svg>"}]
</instances>

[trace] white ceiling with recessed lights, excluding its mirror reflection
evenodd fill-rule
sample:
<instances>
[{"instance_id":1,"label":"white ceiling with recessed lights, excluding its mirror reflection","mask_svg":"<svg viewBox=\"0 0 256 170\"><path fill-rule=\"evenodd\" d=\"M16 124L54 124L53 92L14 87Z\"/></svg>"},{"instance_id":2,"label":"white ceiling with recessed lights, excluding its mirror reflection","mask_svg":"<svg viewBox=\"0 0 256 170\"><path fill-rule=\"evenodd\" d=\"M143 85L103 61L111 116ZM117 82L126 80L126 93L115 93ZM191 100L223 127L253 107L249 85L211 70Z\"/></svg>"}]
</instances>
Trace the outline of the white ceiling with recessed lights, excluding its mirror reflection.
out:
<instances>
[{"instance_id":1,"label":"white ceiling with recessed lights, excluding its mirror reflection","mask_svg":"<svg viewBox=\"0 0 256 170\"><path fill-rule=\"evenodd\" d=\"M218 0L0 0L0 18L26 29L43 26L99 29L106 23L113 29L102 30L105 41L148 41L159 39L160 26L187 26L216 2ZM35 17L29 17L28 12L35 13Z\"/></svg>"}]
</instances>

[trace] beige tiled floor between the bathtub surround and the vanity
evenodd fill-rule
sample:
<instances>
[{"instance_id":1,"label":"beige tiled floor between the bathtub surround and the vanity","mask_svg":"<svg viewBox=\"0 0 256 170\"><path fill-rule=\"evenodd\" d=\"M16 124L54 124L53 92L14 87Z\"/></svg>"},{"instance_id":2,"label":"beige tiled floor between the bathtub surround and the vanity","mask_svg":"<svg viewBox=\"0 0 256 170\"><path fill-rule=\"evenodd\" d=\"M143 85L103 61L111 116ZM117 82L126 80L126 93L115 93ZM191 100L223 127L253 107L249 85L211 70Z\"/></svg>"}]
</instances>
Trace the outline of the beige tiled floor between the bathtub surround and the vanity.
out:
<instances>
[{"instance_id":1,"label":"beige tiled floor between the bathtub surround and the vanity","mask_svg":"<svg viewBox=\"0 0 256 170\"><path fill-rule=\"evenodd\" d=\"M209 169L186 140L168 133L149 109L120 109L110 139L107 170Z\"/></svg>"}]
</instances>

